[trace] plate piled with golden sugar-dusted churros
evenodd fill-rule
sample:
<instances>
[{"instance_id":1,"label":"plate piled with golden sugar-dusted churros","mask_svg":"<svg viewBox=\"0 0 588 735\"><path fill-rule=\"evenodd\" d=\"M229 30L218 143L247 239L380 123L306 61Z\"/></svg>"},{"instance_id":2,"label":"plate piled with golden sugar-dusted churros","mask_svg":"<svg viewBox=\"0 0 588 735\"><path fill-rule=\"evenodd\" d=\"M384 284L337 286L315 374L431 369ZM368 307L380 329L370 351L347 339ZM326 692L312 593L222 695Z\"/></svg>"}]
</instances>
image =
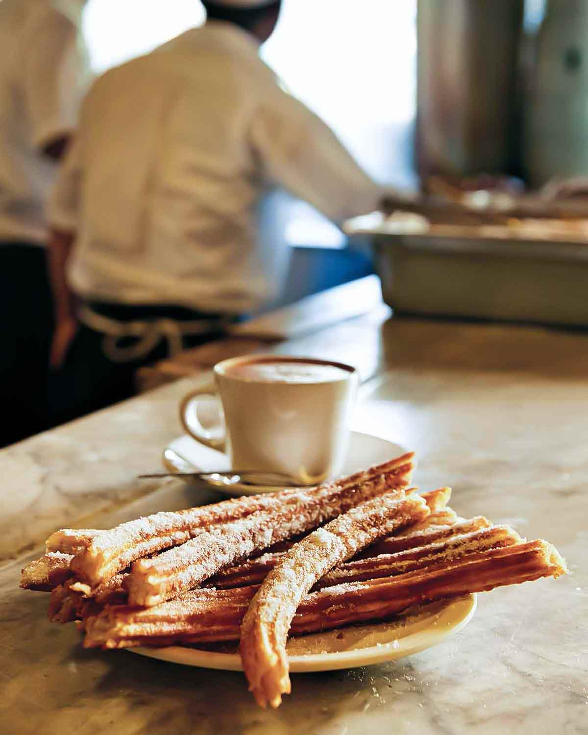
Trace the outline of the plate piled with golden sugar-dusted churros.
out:
<instances>
[{"instance_id":1,"label":"plate piled with golden sugar-dusted churros","mask_svg":"<svg viewBox=\"0 0 588 735\"><path fill-rule=\"evenodd\" d=\"M460 517L449 487L418 492L414 466L404 453L316 487L62 528L21 587L49 591L50 620L75 623L85 648L238 659L277 707L291 670L415 653L463 627L476 593L566 573L550 543Z\"/></svg>"}]
</instances>

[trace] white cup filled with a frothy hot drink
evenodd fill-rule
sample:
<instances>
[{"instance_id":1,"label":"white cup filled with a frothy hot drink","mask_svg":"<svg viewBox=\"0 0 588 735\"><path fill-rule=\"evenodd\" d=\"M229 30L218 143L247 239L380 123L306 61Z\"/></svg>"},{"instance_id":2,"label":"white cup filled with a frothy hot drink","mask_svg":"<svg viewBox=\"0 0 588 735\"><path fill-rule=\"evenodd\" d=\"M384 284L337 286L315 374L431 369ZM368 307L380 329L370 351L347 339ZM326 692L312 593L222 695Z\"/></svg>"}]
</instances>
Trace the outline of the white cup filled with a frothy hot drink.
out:
<instances>
[{"instance_id":1,"label":"white cup filled with a frothy hot drink","mask_svg":"<svg viewBox=\"0 0 588 735\"><path fill-rule=\"evenodd\" d=\"M204 429L211 394L193 391L180 404L180 419L194 439L225 451L236 470L284 473L309 485L340 473L359 382L355 368L267 355L223 360L214 373L224 427Z\"/></svg>"}]
</instances>

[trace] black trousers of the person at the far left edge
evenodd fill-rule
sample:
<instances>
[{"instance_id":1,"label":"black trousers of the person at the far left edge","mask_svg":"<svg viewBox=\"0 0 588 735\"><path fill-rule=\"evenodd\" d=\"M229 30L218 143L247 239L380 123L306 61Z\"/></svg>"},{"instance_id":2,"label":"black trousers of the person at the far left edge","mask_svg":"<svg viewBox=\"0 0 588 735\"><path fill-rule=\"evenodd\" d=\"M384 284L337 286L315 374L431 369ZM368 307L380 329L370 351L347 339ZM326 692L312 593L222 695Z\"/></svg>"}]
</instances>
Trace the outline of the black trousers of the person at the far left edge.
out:
<instances>
[{"instance_id":1,"label":"black trousers of the person at the far left edge","mask_svg":"<svg viewBox=\"0 0 588 735\"><path fill-rule=\"evenodd\" d=\"M45 248L0 241L0 447L47 428L52 323Z\"/></svg>"}]
</instances>

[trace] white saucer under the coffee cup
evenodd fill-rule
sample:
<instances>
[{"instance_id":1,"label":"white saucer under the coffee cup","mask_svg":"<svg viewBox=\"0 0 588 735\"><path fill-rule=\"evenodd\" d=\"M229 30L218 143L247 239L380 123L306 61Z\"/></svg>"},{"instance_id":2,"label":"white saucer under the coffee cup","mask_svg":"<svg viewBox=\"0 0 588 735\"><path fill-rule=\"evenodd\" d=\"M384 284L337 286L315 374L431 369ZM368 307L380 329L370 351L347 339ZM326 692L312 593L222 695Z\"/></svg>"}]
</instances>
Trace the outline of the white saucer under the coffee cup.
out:
<instances>
[{"instance_id":1,"label":"white saucer under the coffee cup","mask_svg":"<svg viewBox=\"0 0 588 735\"><path fill-rule=\"evenodd\" d=\"M365 470L371 465L379 465L401 454L406 449L399 444L389 442L370 434L351 432L349 448L341 475L351 475L357 470ZM192 437L184 434L183 437L173 440L163 452L163 464L170 472L197 472L198 470L229 470L229 458L226 454L209 449ZM259 492L273 492L282 490L282 487L268 487L267 485L234 484L223 487L215 485L220 492L226 495L257 495Z\"/></svg>"}]
</instances>

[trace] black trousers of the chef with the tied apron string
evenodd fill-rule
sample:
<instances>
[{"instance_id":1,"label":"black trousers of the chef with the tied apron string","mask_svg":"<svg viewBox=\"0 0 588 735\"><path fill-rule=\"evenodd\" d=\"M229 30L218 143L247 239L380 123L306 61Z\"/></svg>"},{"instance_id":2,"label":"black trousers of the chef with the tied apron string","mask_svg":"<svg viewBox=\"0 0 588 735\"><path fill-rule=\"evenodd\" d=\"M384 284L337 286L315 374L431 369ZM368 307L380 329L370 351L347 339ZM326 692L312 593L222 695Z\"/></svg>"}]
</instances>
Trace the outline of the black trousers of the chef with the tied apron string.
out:
<instances>
[{"instance_id":1,"label":"black trousers of the chef with the tied apron string","mask_svg":"<svg viewBox=\"0 0 588 735\"><path fill-rule=\"evenodd\" d=\"M122 306L119 304L89 304L91 308L119 322L169 318L179 321L219 318L178 306ZM223 336L221 329L204 335L186 336L184 348L197 347ZM121 346L132 346L129 338ZM87 413L106 408L135 395L135 373L144 365L165 359L168 343L161 340L140 359L113 362L104 354L104 334L80 325L62 368L49 376L49 422L57 426Z\"/></svg>"}]
</instances>

